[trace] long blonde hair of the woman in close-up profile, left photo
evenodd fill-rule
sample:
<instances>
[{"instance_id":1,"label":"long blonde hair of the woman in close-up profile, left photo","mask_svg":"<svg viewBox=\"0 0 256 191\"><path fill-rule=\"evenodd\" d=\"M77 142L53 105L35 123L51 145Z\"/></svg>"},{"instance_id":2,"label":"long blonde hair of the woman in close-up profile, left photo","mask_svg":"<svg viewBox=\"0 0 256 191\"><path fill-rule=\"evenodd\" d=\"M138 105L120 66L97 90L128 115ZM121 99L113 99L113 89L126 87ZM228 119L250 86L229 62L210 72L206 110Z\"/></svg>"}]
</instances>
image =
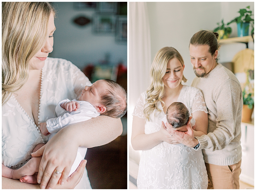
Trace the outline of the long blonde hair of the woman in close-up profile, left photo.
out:
<instances>
[{"instance_id":1,"label":"long blonde hair of the woman in close-up profile, left photo","mask_svg":"<svg viewBox=\"0 0 256 191\"><path fill-rule=\"evenodd\" d=\"M2 106L28 79L29 61L44 46L48 2L2 2Z\"/></svg>"}]
</instances>

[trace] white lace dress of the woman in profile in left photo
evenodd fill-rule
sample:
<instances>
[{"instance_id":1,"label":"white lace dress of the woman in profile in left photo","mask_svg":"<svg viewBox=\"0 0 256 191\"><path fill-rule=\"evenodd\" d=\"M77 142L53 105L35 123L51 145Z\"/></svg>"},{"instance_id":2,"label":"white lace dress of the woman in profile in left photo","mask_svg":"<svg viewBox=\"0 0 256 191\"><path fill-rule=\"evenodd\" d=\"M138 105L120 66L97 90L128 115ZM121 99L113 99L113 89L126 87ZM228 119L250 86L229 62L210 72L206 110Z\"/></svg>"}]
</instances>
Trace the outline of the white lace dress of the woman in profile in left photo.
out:
<instances>
[{"instance_id":1,"label":"white lace dress of the woman in profile in left photo","mask_svg":"<svg viewBox=\"0 0 256 191\"><path fill-rule=\"evenodd\" d=\"M38 124L55 118L60 100L78 99L82 89L91 86L89 79L71 62L47 58L42 68ZM34 147L46 143L48 137L40 133L14 96L2 106L2 164L18 169L30 158ZM72 141L72 140L70 140ZM87 170L75 189L91 189Z\"/></svg>"}]
</instances>

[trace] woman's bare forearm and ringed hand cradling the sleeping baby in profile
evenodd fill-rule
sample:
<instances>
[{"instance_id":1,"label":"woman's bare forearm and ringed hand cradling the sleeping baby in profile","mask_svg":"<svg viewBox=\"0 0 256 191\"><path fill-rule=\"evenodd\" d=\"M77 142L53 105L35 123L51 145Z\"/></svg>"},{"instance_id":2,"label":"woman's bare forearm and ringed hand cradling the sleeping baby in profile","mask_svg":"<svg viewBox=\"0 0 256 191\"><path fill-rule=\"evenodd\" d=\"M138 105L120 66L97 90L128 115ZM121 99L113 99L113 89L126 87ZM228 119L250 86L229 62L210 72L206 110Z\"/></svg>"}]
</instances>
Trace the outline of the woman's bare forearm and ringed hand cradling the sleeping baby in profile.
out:
<instances>
[{"instance_id":1,"label":"woman's bare forearm and ringed hand cradling the sleeping baby in profile","mask_svg":"<svg viewBox=\"0 0 256 191\"><path fill-rule=\"evenodd\" d=\"M103 115L62 128L44 147L32 154L33 157L42 156L37 176L41 188L55 187L60 178L54 176L55 169L63 171L61 182L67 180L79 146L90 148L105 145L120 136L122 130L120 118Z\"/></svg>"}]
</instances>

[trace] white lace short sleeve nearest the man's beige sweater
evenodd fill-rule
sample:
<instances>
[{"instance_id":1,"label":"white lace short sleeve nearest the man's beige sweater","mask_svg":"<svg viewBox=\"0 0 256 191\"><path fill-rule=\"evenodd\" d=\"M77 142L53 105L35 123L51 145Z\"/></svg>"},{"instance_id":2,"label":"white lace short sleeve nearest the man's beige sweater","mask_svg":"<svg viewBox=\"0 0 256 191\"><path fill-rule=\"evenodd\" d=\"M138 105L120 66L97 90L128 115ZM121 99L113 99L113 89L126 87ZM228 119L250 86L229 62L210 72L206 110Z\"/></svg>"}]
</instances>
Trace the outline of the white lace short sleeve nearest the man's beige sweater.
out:
<instances>
[{"instance_id":1,"label":"white lace short sleeve nearest the man's beige sweater","mask_svg":"<svg viewBox=\"0 0 256 191\"><path fill-rule=\"evenodd\" d=\"M191 107L191 113L194 113L195 111L204 111L205 113L208 113L207 107L205 105L204 96L199 89L197 89L195 92L194 100Z\"/></svg>"}]
</instances>

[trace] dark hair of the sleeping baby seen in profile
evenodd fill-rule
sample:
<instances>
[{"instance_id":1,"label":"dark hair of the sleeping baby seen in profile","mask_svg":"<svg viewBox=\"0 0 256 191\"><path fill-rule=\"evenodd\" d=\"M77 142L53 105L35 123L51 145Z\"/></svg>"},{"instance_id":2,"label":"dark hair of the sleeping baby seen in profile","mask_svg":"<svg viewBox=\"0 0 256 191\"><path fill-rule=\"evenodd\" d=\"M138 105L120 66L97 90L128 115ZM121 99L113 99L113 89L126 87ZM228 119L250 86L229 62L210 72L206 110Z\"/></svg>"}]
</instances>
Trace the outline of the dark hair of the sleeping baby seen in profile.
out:
<instances>
[{"instance_id":1,"label":"dark hair of the sleeping baby seen in profile","mask_svg":"<svg viewBox=\"0 0 256 191\"><path fill-rule=\"evenodd\" d=\"M100 95L100 104L106 107L101 115L114 118L124 116L127 111L127 93L125 89L113 80L104 80L108 86L106 93Z\"/></svg>"}]
</instances>

